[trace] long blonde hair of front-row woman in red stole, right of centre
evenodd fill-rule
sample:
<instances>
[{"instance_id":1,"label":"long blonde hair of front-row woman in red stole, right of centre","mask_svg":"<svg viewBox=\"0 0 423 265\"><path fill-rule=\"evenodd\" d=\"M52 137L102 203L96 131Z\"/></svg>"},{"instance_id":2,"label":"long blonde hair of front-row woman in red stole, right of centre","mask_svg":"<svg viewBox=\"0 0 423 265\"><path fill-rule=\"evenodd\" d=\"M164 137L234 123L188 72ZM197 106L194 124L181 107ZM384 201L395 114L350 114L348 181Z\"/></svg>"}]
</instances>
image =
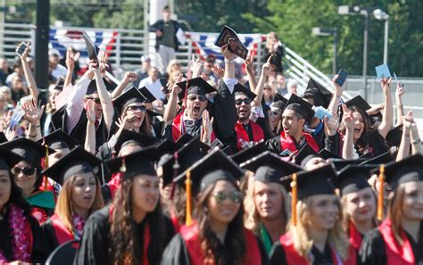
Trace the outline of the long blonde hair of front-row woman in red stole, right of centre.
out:
<instances>
[{"instance_id":1,"label":"long blonde hair of front-row woman in red stole, right of centre","mask_svg":"<svg viewBox=\"0 0 423 265\"><path fill-rule=\"evenodd\" d=\"M298 201L296 204L298 221L295 227L291 223L289 224L289 231L291 232L296 252L308 261L310 261L311 247L313 245L313 239L308 233L308 229L311 227L312 199L312 197L307 197L302 201ZM345 261L348 258L349 242L342 226L343 216L339 200L337 205L340 211L338 211L335 227L329 230L328 244Z\"/></svg>"}]
</instances>

